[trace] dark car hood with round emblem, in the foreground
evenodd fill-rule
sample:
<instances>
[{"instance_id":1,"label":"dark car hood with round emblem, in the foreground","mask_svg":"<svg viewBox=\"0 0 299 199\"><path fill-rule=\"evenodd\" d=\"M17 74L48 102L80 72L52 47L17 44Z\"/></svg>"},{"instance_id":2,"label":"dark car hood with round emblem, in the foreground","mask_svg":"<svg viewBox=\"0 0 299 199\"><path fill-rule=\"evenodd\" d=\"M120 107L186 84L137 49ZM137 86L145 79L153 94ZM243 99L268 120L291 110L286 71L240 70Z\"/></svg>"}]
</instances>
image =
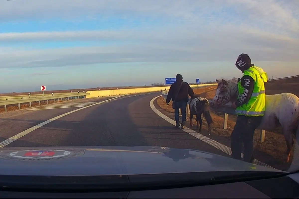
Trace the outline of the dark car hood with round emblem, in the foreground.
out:
<instances>
[{"instance_id":1,"label":"dark car hood with round emblem, in the foreground","mask_svg":"<svg viewBox=\"0 0 299 199\"><path fill-rule=\"evenodd\" d=\"M2 148L0 175L132 175L279 171L207 152L157 146Z\"/></svg>"}]
</instances>

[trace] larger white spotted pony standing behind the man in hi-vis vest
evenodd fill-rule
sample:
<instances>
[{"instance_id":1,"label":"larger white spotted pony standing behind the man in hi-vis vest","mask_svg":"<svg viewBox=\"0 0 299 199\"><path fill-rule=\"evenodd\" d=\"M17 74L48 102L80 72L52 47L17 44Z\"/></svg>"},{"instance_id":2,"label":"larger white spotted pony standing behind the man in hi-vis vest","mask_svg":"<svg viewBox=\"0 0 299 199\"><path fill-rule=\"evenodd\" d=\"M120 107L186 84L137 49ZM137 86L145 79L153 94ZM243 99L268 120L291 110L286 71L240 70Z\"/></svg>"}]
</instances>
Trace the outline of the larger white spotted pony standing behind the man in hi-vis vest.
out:
<instances>
[{"instance_id":1,"label":"larger white spotted pony standing behind the man in hi-vis vest","mask_svg":"<svg viewBox=\"0 0 299 199\"><path fill-rule=\"evenodd\" d=\"M219 108L228 102L234 102L239 95L237 82L233 80L217 80L216 94L210 103L212 108ZM265 114L258 129L267 131L281 126L286 140L286 162L289 162L291 149L294 145L292 135L299 133L299 98L292 93L266 95Z\"/></svg>"}]
</instances>

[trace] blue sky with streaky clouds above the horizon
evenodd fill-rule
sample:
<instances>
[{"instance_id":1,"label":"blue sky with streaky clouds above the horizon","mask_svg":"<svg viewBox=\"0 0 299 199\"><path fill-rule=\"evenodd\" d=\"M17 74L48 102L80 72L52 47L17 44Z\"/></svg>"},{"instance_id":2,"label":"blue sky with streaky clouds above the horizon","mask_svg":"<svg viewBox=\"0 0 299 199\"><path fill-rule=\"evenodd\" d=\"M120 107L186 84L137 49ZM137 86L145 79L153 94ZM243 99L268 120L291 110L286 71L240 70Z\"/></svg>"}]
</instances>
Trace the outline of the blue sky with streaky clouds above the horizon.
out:
<instances>
[{"instance_id":1,"label":"blue sky with streaky clouds above the horizon","mask_svg":"<svg viewBox=\"0 0 299 199\"><path fill-rule=\"evenodd\" d=\"M0 92L299 73L298 0L0 1Z\"/></svg>"}]
</instances>

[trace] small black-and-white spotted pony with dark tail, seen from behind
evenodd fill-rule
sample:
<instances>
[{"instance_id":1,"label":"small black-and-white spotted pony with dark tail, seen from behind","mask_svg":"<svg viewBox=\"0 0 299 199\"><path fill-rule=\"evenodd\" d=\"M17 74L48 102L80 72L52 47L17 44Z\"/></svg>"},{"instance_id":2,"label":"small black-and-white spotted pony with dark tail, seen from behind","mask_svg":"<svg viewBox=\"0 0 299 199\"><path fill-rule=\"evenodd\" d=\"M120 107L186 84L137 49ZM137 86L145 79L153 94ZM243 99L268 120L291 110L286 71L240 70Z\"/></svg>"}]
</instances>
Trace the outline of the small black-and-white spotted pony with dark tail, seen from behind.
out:
<instances>
[{"instance_id":1,"label":"small black-and-white spotted pony with dark tail, seen from behind","mask_svg":"<svg viewBox=\"0 0 299 199\"><path fill-rule=\"evenodd\" d=\"M189 103L190 109L190 126L192 127L192 118L193 115L196 115L197 126L196 129L199 129L199 132L202 131L202 114L208 123L208 132L211 134L210 124L213 123L212 117L210 115L210 103L207 98L201 98L196 96L190 99ZM199 126L200 125L200 126Z\"/></svg>"}]
</instances>

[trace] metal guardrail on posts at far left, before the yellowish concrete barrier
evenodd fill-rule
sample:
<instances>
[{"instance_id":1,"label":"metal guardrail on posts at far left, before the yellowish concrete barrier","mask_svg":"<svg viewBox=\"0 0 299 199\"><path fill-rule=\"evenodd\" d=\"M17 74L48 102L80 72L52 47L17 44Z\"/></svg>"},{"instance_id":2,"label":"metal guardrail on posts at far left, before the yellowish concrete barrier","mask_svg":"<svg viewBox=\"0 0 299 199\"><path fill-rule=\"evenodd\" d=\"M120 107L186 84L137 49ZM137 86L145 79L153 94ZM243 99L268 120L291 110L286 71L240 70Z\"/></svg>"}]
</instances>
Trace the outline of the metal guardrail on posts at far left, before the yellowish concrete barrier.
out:
<instances>
[{"instance_id":1,"label":"metal guardrail on posts at far left, before the yellowish concrete barrier","mask_svg":"<svg viewBox=\"0 0 299 199\"><path fill-rule=\"evenodd\" d=\"M30 98L27 96L27 98L22 98L22 99L18 99L18 100L5 100L5 101L0 101L0 106L4 106L5 112L7 112L7 105L13 105L13 104L18 104L19 109L21 109L21 104L25 104L25 103L29 103L29 107L31 107L31 103L32 102L38 102L39 106L40 106L40 102L43 101L45 104L45 101L47 104L49 104L49 100L54 100L54 102L56 102L56 99L59 101L63 101L63 99L65 101L67 100L73 100L73 98L75 99L79 99L79 98L84 98L84 96L86 95L90 95L90 93L68 93L68 94L64 94L64 95L51 95L51 96L45 96L45 97L32 97L30 96Z\"/></svg>"}]
</instances>

